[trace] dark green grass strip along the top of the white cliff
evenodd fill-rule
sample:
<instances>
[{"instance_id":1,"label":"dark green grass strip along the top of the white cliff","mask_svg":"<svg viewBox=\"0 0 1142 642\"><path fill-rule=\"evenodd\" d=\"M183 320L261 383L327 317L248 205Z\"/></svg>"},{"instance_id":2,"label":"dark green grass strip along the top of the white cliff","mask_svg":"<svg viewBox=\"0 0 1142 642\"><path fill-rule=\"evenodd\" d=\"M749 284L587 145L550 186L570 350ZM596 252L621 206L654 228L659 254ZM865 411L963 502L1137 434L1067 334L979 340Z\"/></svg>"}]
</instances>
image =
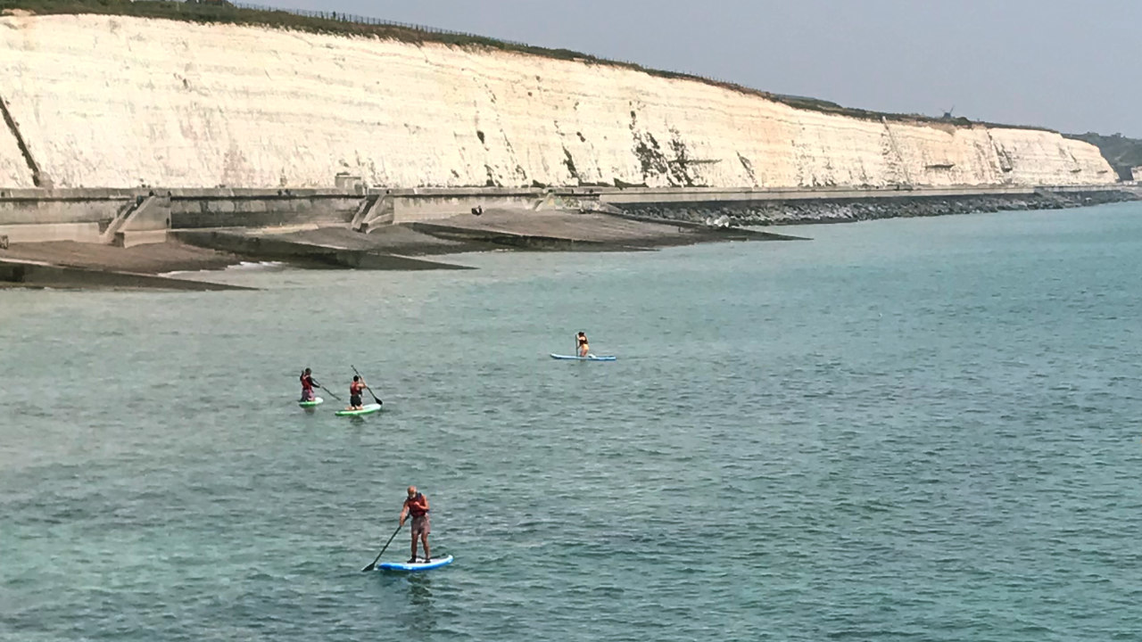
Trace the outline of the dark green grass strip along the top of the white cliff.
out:
<instances>
[{"instance_id":1,"label":"dark green grass strip along the top of the white cliff","mask_svg":"<svg viewBox=\"0 0 1142 642\"><path fill-rule=\"evenodd\" d=\"M803 96L772 94L759 89L743 87L734 82L725 82L689 73L648 69L635 63L608 61L605 58L597 58L589 54L572 51L570 49L547 49L545 47L533 47L521 42L507 42L494 38L485 38L469 33L437 31L432 30L431 27L416 27L411 25L397 24L370 24L364 22L354 22L352 19L343 19L343 17L335 19L331 17L327 18L299 15L288 10L243 8L223 0L191 0L186 2L175 2L169 0L0 0L0 11L6 9L25 10L39 15L102 14L145 18L166 18L210 24L270 26L306 31L311 33L368 35L410 43L441 42L458 47L488 47L491 49L517 51L533 56L542 56L546 58L578 61L587 64L624 67L659 78L691 80L742 94L759 96L762 98L783 103L801 110L811 110L864 120L880 120L883 118L901 122L938 122L958 127L968 127L973 125L973 121L966 118L939 119L923 114L900 114L844 107L829 101L806 98ZM330 14L336 15L335 13ZM347 18L347 16L345 16L345 18ZM982 121L979 121L979 125L1013 129L1047 130L1045 128L1034 126L997 125Z\"/></svg>"}]
</instances>

